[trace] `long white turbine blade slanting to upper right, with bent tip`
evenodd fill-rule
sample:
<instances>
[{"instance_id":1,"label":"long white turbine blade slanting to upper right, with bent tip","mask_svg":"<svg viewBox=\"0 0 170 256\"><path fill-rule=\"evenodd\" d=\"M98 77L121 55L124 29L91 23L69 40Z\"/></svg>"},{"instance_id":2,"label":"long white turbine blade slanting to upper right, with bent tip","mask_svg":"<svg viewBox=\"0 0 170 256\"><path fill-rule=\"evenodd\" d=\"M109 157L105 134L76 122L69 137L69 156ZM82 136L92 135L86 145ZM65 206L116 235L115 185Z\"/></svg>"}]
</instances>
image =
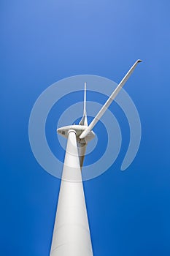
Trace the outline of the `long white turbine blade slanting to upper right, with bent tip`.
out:
<instances>
[{"instance_id":1,"label":"long white turbine blade slanting to upper right, with bent tip","mask_svg":"<svg viewBox=\"0 0 170 256\"><path fill-rule=\"evenodd\" d=\"M135 64L131 67L131 69L129 69L128 73L125 75L125 77L123 78L123 80L121 80L121 82L119 83L119 85L117 86L117 88L115 89L115 91L112 92L111 96L109 97L109 99L107 99L107 102L104 104L104 106L101 108L101 110L98 112L98 114L96 115L96 117L93 119L93 121L89 124L89 126L84 130L84 132L82 132L82 134L80 135L80 139L85 138L85 136L88 135L88 133L93 129L93 127L96 125L96 123L98 122L98 120L101 118L101 116L103 116L104 112L107 110L107 108L109 108L109 105L112 103L112 101L115 99L115 97L117 96L117 94L119 93L119 91L123 88L125 82L128 80L128 78L131 76L131 74L134 72L134 69L136 68L137 64L141 62L140 59L138 59Z\"/></svg>"}]
</instances>

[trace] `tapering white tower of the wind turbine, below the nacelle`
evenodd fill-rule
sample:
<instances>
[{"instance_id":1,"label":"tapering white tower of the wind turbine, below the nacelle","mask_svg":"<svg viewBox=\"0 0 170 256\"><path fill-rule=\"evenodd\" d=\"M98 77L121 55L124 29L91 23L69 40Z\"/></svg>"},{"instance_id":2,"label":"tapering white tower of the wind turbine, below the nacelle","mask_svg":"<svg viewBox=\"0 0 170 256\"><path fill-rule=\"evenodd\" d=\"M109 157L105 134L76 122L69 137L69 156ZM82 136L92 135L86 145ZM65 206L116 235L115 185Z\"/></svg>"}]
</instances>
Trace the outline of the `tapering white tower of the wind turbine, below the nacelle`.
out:
<instances>
[{"instance_id":1,"label":"tapering white tower of the wind turbine, below the nacelle","mask_svg":"<svg viewBox=\"0 0 170 256\"><path fill-rule=\"evenodd\" d=\"M92 256L77 135L68 134L50 256Z\"/></svg>"}]
</instances>

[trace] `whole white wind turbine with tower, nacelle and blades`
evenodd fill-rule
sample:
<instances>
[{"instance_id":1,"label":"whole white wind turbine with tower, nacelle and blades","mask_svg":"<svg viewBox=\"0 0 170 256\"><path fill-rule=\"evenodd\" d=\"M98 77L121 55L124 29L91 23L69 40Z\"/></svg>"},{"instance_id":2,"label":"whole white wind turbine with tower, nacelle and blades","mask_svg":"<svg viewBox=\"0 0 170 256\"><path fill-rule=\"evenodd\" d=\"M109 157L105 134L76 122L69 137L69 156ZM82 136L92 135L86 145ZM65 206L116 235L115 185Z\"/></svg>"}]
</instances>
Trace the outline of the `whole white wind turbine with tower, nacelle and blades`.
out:
<instances>
[{"instance_id":1,"label":"whole white wind turbine with tower, nacelle and blades","mask_svg":"<svg viewBox=\"0 0 170 256\"><path fill-rule=\"evenodd\" d=\"M137 60L129 69L89 125L85 83L84 111L80 123L57 129L58 134L67 139L67 146L50 256L93 256L81 173L85 149L88 142L95 137L93 127L109 108L139 62L141 60Z\"/></svg>"}]
</instances>

